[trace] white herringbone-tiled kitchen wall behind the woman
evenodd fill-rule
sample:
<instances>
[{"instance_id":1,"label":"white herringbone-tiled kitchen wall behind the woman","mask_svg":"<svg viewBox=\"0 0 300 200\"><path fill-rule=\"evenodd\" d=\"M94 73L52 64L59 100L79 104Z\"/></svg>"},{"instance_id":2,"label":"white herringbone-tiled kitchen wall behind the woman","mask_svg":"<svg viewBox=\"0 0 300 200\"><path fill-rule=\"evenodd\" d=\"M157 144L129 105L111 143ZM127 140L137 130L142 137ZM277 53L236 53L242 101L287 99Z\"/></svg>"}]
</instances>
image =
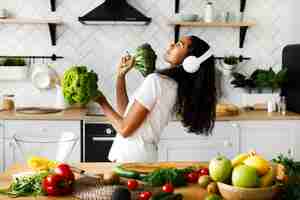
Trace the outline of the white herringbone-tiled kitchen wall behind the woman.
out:
<instances>
[{"instance_id":1,"label":"white herringbone-tiled kitchen wall behind the woman","mask_svg":"<svg viewBox=\"0 0 300 200\"><path fill-rule=\"evenodd\" d=\"M57 0L57 12L51 13L49 0L0 0L0 8L8 8L14 16L43 17L61 16L64 25L58 27L57 46L50 45L47 26L38 25L0 25L0 54L4 55L57 55L65 59L53 63L62 73L72 64L85 64L100 76L100 87L111 99L114 99L114 74L116 64L126 50L134 49L142 42L150 42L160 55L159 67L165 65L162 54L169 41L173 39L173 28L167 25L167 19L173 14L174 0L129 0L129 2L153 18L149 26L83 26L77 21L102 1L98 0ZM202 15L204 0L182 0L181 10ZM239 0L215 0L216 10L231 11L238 14ZM255 20L257 26L248 31L245 48L238 48L237 29L200 29L185 28L182 34L195 34L207 40L217 55L229 53L251 56L253 60L244 63L241 71L251 72L257 67L281 65L281 50L288 44L299 41L300 28L297 0L248 0L246 19ZM232 90L229 80L222 78L223 95L229 101L240 103L240 90ZM142 81L139 74L133 72L128 78L129 91L132 92ZM29 81L0 81L2 92L26 93L27 102L42 101L51 105L55 98L43 100L45 93L37 93ZM53 92L52 96L55 96ZM22 95L21 95L22 96ZM30 101L30 99L32 101ZM38 99L38 100L37 100Z\"/></svg>"}]
</instances>

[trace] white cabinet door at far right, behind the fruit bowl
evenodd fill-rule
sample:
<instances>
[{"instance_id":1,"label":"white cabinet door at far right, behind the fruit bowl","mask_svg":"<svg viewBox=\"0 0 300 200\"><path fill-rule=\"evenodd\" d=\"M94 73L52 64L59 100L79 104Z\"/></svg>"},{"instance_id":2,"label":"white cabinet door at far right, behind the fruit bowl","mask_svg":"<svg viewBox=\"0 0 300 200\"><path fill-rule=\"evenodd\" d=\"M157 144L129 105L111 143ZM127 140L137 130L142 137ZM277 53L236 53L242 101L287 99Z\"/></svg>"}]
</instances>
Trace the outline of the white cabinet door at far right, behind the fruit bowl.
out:
<instances>
[{"instance_id":1,"label":"white cabinet door at far right, behind the fruit bowl","mask_svg":"<svg viewBox=\"0 0 300 200\"><path fill-rule=\"evenodd\" d=\"M254 149L267 159L280 153L294 157L296 123L293 120L240 122L241 152Z\"/></svg>"}]
</instances>

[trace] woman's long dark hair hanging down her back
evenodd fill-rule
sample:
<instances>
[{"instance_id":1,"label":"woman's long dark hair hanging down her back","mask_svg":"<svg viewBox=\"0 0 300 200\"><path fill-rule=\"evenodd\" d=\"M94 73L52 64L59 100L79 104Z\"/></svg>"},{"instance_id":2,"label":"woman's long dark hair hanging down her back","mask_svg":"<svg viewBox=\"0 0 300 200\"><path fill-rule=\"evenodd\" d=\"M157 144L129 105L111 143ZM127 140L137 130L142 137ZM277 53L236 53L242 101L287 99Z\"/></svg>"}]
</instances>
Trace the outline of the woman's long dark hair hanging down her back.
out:
<instances>
[{"instance_id":1,"label":"woman's long dark hair hanging down her back","mask_svg":"<svg viewBox=\"0 0 300 200\"><path fill-rule=\"evenodd\" d=\"M200 57L210 47L196 36L190 36L187 56ZM195 73L187 73L183 66L177 66L158 72L174 79L178 83L175 112L188 132L209 135L216 118L215 60L211 56L204 61Z\"/></svg>"}]
</instances>

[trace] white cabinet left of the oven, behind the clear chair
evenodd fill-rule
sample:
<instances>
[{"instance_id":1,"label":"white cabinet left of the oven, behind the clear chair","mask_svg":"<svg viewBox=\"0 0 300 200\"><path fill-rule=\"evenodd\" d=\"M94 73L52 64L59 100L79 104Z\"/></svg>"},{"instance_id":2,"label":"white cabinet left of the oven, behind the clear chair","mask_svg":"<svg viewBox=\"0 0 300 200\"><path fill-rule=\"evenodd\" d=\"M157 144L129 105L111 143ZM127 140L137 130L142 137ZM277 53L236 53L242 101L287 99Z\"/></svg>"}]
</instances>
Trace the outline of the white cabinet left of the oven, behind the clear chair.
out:
<instances>
[{"instance_id":1,"label":"white cabinet left of the oven, behind the clear chair","mask_svg":"<svg viewBox=\"0 0 300 200\"><path fill-rule=\"evenodd\" d=\"M24 157L14 143L13 136L18 134L51 134L53 132L72 132L80 138L80 121L46 121L46 120L8 120L5 121L5 168L16 162L24 163ZM41 146L43 148L43 146ZM44 146L45 148L45 146ZM45 151L49 155L57 152L59 146L51 146ZM52 153L52 154L51 154ZM78 140L67 162L80 162L80 140Z\"/></svg>"}]
</instances>

